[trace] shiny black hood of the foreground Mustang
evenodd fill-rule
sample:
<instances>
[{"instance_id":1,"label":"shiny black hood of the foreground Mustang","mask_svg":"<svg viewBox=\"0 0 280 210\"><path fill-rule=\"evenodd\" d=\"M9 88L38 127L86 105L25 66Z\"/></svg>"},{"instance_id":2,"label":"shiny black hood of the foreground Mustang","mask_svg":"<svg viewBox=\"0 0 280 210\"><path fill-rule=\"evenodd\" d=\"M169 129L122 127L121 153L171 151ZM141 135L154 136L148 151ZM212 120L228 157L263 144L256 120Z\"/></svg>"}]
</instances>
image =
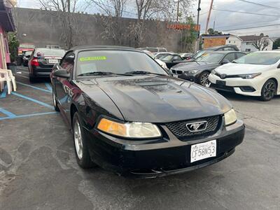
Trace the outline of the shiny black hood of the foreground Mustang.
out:
<instances>
[{"instance_id":1,"label":"shiny black hood of the foreground Mustang","mask_svg":"<svg viewBox=\"0 0 280 210\"><path fill-rule=\"evenodd\" d=\"M102 77L90 81L107 94L126 121L167 123L221 115L232 108L214 90L169 76ZM85 90L92 100L96 98L90 88Z\"/></svg>"}]
</instances>

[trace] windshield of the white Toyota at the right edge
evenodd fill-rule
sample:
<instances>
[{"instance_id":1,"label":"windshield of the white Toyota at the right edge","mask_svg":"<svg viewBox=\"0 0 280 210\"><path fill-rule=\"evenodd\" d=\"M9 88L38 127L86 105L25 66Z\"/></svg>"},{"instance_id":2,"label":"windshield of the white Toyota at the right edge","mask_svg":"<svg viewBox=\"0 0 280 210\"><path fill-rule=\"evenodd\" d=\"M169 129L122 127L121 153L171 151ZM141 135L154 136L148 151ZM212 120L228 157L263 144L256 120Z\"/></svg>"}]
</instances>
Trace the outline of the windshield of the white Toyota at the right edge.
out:
<instances>
[{"instance_id":1,"label":"windshield of the white Toyota at the right edge","mask_svg":"<svg viewBox=\"0 0 280 210\"><path fill-rule=\"evenodd\" d=\"M271 65L280 59L279 52L253 52L235 60L237 64Z\"/></svg>"}]
</instances>

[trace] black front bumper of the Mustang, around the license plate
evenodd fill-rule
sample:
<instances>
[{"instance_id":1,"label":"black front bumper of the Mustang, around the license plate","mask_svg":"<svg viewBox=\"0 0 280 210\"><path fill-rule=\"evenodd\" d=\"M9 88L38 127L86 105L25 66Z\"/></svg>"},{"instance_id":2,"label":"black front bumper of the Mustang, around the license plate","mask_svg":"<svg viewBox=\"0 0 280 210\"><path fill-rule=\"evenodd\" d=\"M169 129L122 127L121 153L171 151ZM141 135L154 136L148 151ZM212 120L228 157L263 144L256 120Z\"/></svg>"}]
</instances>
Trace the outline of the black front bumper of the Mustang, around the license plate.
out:
<instances>
[{"instance_id":1,"label":"black front bumper of the Mustang, around the license plate","mask_svg":"<svg viewBox=\"0 0 280 210\"><path fill-rule=\"evenodd\" d=\"M230 126L221 125L216 134L204 139L181 141L167 127L161 127L168 138L125 140L111 137L98 130L86 130L90 157L104 169L123 176L154 178L179 174L206 167L227 158L244 139L241 120ZM216 139L216 157L190 162L191 145Z\"/></svg>"}]
</instances>

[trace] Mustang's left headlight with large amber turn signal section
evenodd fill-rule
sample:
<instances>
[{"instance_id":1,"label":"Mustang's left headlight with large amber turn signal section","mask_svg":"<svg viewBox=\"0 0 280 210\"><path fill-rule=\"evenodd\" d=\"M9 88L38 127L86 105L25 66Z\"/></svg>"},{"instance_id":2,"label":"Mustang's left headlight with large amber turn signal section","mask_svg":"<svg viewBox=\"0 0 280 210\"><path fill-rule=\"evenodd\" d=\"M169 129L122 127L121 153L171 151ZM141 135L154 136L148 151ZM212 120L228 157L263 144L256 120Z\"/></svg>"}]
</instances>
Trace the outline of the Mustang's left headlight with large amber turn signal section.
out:
<instances>
[{"instance_id":1,"label":"Mustang's left headlight with large amber turn signal section","mask_svg":"<svg viewBox=\"0 0 280 210\"><path fill-rule=\"evenodd\" d=\"M102 118L97 126L98 130L126 138L156 138L162 134L158 126L152 123L117 123L106 118Z\"/></svg>"}]
</instances>

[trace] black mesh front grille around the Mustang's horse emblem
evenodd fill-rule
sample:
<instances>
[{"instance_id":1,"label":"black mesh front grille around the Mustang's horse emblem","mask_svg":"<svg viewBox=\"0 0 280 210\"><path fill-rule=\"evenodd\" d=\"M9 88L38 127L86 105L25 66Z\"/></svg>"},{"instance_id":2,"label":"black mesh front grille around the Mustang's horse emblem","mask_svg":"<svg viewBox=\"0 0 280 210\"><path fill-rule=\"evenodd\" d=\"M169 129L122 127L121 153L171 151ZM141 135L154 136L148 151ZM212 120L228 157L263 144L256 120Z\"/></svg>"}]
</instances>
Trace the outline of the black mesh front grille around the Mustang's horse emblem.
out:
<instances>
[{"instance_id":1,"label":"black mesh front grille around the Mustang's horse emblem","mask_svg":"<svg viewBox=\"0 0 280 210\"><path fill-rule=\"evenodd\" d=\"M202 137L202 136L210 136L216 133L219 129L219 125L221 123L221 116L212 116L207 118L200 118L196 120L186 120L174 123L167 123L167 128L178 138L188 137L188 138L195 138L195 137ZM206 130L200 132L190 132L187 128L188 123L196 123L201 121L207 121L207 128Z\"/></svg>"}]
</instances>

